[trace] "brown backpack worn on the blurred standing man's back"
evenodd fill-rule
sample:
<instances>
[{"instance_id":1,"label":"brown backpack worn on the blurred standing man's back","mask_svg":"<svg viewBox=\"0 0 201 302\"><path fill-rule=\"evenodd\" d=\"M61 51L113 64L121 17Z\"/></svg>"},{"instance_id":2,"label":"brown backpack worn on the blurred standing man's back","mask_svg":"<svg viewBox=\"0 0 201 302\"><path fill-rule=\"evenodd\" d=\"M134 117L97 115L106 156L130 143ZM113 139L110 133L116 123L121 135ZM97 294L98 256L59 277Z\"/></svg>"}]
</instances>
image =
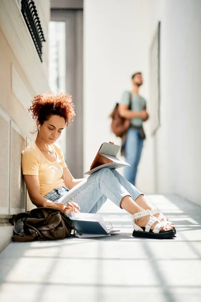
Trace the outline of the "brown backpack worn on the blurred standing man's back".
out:
<instances>
[{"instance_id":1,"label":"brown backpack worn on the blurred standing man's back","mask_svg":"<svg viewBox=\"0 0 201 302\"><path fill-rule=\"evenodd\" d=\"M129 110L131 110L131 99L132 95L129 93ZM128 131L130 120L120 116L118 103L110 114L110 117L112 118L111 129L113 133L118 137L122 137Z\"/></svg>"}]
</instances>

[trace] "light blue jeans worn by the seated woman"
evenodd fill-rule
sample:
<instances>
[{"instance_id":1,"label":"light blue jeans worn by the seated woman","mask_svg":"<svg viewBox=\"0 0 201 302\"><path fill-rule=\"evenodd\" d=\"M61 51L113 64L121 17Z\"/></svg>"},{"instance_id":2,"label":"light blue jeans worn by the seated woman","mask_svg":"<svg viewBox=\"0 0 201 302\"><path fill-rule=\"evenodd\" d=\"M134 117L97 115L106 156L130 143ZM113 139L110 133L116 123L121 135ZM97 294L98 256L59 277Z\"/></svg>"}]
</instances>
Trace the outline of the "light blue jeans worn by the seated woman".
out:
<instances>
[{"instance_id":1,"label":"light blue jeans worn by the seated woman","mask_svg":"<svg viewBox=\"0 0 201 302\"><path fill-rule=\"evenodd\" d=\"M50 193L44 197L48 199ZM120 207L123 197L129 195L135 200L141 194L143 193L116 170L103 168L91 174L70 191L65 192L62 197L58 196L52 201L64 204L74 201L80 206L80 212L96 213L107 198Z\"/></svg>"}]
</instances>

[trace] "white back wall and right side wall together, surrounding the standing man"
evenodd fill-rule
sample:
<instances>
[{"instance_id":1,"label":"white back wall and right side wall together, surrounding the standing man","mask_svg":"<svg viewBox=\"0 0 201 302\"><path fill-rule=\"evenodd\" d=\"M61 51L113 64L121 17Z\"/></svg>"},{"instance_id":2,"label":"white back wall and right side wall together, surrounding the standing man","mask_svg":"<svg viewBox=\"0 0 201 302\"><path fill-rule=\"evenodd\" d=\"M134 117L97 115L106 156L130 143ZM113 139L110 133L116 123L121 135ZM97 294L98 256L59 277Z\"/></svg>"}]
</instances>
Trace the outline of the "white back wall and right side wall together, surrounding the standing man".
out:
<instances>
[{"instance_id":1,"label":"white back wall and right side wall together, surrounding the standing man","mask_svg":"<svg viewBox=\"0 0 201 302\"><path fill-rule=\"evenodd\" d=\"M108 115L130 76L142 71L141 94L149 110L149 52L158 21L160 127L147 140L137 186L147 193L175 193L201 204L200 28L198 0L84 2L84 167L103 141L120 141Z\"/></svg>"}]
</instances>

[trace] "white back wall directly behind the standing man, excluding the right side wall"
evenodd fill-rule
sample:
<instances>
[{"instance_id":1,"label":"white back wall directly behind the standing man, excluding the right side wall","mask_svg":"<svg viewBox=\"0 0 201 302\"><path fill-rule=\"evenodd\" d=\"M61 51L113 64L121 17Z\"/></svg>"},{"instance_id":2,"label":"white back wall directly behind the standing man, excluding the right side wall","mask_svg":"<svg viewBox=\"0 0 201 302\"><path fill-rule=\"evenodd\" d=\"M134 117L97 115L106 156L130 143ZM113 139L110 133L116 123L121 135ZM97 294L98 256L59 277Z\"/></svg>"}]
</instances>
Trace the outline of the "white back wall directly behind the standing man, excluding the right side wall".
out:
<instances>
[{"instance_id":1,"label":"white back wall directly behind the standing man, excluding the right side wall","mask_svg":"<svg viewBox=\"0 0 201 302\"><path fill-rule=\"evenodd\" d=\"M130 77L137 70L144 77L141 94L149 99L149 12L149 0L84 2L84 171L102 142L120 143L110 131L109 114L123 91L131 88ZM148 130L147 136L137 185L153 192Z\"/></svg>"}]
</instances>

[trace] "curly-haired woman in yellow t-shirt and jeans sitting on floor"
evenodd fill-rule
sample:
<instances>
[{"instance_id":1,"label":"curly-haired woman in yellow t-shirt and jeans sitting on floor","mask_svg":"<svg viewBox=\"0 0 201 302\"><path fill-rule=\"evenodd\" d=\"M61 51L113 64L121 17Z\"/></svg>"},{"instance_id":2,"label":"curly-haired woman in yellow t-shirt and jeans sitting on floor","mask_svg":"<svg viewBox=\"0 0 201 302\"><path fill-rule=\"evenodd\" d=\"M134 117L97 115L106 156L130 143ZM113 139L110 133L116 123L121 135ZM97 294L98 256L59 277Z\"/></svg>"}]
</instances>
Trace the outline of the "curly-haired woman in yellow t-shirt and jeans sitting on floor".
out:
<instances>
[{"instance_id":1,"label":"curly-haired woman in yellow t-shirt and jeans sitting on floor","mask_svg":"<svg viewBox=\"0 0 201 302\"><path fill-rule=\"evenodd\" d=\"M147 198L116 170L103 168L85 179L74 179L55 144L75 116L68 94L41 94L29 108L36 120L37 137L22 155L28 193L37 207L58 203L65 213L96 213L107 198L133 215L134 237L172 238L173 223L154 209Z\"/></svg>"}]
</instances>

